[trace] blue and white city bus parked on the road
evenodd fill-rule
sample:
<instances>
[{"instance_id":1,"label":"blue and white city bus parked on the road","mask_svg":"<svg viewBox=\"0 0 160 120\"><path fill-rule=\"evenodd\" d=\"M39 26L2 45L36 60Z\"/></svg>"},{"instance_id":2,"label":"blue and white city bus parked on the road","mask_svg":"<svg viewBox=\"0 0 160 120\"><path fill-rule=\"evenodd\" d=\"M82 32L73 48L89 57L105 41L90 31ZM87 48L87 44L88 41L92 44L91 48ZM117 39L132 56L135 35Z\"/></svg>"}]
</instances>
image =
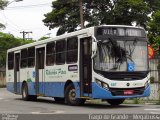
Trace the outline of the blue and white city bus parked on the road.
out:
<instances>
[{"instance_id":1,"label":"blue and white city bus parked on the road","mask_svg":"<svg viewBox=\"0 0 160 120\"><path fill-rule=\"evenodd\" d=\"M8 91L24 100L54 97L69 105L87 99L119 105L150 95L148 43L140 27L82 29L7 51Z\"/></svg>"}]
</instances>

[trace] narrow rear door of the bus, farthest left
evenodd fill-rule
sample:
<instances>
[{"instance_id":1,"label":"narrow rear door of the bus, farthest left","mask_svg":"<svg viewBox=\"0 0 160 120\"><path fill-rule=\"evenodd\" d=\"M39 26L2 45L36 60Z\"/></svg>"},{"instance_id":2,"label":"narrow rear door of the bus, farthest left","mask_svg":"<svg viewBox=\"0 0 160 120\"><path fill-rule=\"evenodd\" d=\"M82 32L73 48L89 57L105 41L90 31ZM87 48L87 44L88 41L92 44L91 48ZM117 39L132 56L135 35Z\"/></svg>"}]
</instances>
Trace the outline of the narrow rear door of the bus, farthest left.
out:
<instances>
[{"instance_id":1,"label":"narrow rear door of the bus, farthest left","mask_svg":"<svg viewBox=\"0 0 160 120\"><path fill-rule=\"evenodd\" d=\"M20 93L20 73L19 73L19 67L20 67L20 53L15 53L15 60L14 60L14 92Z\"/></svg>"}]
</instances>

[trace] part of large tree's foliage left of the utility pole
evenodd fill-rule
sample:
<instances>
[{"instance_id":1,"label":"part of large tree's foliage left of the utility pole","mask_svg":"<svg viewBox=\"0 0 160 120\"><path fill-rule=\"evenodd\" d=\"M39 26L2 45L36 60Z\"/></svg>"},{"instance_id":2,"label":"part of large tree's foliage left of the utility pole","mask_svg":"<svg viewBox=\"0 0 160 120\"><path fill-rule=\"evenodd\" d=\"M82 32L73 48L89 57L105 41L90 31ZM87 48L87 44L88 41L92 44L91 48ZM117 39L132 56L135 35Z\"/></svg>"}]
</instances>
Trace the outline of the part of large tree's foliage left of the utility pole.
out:
<instances>
[{"instance_id":1,"label":"part of large tree's foliage left of the utility pole","mask_svg":"<svg viewBox=\"0 0 160 120\"><path fill-rule=\"evenodd\" d=\"M78 0L57 0L52 2L52 6L52 12L45 14L45 25L49 29L59 27L57 35L75 31L80 23Z\"/></svg>"}]
</instances>

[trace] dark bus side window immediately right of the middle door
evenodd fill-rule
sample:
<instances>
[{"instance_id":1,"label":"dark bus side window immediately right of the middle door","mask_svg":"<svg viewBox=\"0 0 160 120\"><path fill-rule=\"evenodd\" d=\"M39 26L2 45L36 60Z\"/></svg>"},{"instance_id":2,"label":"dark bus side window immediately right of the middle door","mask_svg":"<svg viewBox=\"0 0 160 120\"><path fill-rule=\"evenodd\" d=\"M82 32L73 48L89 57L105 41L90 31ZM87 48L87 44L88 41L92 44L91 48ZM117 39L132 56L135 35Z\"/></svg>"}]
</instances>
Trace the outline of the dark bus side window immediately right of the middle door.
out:
<instances>
[{"instance_id":1,"label":"dark bus side window immediately right of the middle door","mask_svg":"<svg viewBox=\"0 0 160 120\"><path fill-rule=\"evenodd\" d=\"M55 63L55 42L47 44L46 65L54 65Z\"/></svg>"}]
</instances>

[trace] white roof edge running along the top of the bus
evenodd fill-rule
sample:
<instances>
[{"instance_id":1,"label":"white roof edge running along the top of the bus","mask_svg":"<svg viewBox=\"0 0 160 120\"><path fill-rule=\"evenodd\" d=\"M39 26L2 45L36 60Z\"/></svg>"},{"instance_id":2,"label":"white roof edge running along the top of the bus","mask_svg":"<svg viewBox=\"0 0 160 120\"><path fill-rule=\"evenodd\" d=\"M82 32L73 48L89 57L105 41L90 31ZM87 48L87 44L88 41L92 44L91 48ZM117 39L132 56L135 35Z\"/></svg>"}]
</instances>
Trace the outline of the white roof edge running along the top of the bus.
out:
<instances>
[{"instance_id":1,"label":"white roof edge running along the top of the bus","mask_svg":"<svg viewBox=\"0 0 160 120\"><path fill-rule=\"evenodd\" d=\"M22 45L22 46L15 47L15 48L11 48L11 49L8 49L7 52L18 51L18 50L25 49L25 48L28 48L28 47L38 46L38 45L42 45L42 44L45 44L45 43L48 43L48 42L51 42L51 41L65 39L65 38L73 37L73 36L77 36L77 35L82 35L82 34L91 35L91 33L94 34L93 31L94 31L95 27L128 27L128 28L143 29L142 27L134 27L134 26L127 26L127 25L94 26L94 27L89 27L89 28L85 28L85 29L82 29L82 30L74 31L74 32L71 32L71 33L59 35L59 36L56 36L54 38L49 38L49 39L45 39L45 40L41 40L41 41L36 41L36 42L33 42L33 43L29 43L29 44L25 44L25 45Z\"/></svg>"}]
</instances>

